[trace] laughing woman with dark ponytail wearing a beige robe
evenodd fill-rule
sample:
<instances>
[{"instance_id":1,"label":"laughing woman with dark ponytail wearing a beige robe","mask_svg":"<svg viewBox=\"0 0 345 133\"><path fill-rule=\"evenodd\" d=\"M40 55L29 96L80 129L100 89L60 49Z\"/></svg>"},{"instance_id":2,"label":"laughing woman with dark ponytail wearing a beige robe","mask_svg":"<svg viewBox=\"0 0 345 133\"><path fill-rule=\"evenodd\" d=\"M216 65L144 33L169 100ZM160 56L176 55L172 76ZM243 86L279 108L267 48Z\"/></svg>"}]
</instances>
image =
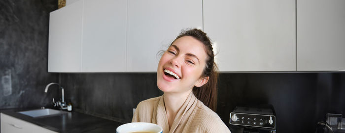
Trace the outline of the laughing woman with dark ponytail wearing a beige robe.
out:
<instances>
[{"instance_id":1,"label":"laughing woman with dark ponytail wearing a beige robe","mask_svg":"<svg viewBox=\"0 0 345 133\"><path fill-rule=\"evenodd\" d=\"M140 102L132 122L158 124L163 133L230 133L214 112L216 70L206 33L182 32L158 63L157 86L164 94Z\"/></svg>"}]
</instances>

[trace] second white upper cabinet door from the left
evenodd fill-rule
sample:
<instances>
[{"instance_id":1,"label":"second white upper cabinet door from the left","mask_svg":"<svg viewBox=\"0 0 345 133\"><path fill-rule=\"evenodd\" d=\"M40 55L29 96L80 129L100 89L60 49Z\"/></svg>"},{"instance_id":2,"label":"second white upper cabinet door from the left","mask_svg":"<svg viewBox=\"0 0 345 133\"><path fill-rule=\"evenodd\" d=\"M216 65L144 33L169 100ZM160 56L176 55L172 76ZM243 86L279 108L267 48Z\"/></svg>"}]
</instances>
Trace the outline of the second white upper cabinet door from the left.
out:
<instances>
[{"instance_id":1,"label":"second white upper cabinet door from the left","mask_svg":"<svg viewBox=\"0 0 345 133\"><path fill-rule=\"evenodd\" d=\"M85 0L82 72L126 71L127 0Z\"/></svg>"}]
</instances>

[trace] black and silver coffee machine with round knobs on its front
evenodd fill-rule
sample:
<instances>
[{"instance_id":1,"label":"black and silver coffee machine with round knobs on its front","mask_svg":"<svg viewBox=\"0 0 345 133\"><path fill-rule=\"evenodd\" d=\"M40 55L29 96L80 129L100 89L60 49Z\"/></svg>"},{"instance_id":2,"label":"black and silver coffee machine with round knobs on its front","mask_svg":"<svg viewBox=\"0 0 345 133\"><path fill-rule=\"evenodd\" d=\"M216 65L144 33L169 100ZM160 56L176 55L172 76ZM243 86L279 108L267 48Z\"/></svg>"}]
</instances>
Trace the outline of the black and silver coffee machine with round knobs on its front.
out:
<instances>
[{"instance_id":1,"label":"black and silver coffee machine with round knobs on its front","mask_svg":"<svg viewBox=\"0 0 345 133\"><path fill-rule=\"evenodd\" d=\"M276 133L276 112L272 105L236 106L229 124L232 133Z\"/></svg>"}]
</instances>

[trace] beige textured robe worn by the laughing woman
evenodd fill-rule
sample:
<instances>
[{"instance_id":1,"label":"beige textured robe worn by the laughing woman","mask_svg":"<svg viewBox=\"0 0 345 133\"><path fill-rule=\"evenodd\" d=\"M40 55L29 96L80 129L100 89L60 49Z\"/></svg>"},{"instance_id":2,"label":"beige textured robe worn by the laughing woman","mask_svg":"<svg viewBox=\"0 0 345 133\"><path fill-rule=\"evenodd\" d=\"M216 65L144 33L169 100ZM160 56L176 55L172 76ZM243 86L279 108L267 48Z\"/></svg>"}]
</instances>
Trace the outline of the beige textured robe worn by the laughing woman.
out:
<instances>
[{"instance_id":1,"label":"beige textured robe worn by the laughing woman","mask_svg":"<svg viewBox=\"0 0 345 133\"><path fill-rule=\"evenodd\" d=\"M193 93L177 112L169 129L163 96L138 104L132 122L149 122L163 128L163 133L230 133L219 116L199 101Z\"/></svg>"}]
</instances>

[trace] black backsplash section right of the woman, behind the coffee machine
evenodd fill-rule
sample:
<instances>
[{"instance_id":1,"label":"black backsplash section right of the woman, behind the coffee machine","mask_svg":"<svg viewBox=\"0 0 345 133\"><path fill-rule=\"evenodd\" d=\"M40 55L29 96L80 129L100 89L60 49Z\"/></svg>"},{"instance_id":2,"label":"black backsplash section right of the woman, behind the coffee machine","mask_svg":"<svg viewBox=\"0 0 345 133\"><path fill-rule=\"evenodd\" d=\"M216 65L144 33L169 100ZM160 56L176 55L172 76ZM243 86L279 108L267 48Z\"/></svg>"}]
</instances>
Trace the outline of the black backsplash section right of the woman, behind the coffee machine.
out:
<instances>
[{"instance_id":1,"label":"black backsplash section right of the woman, behind the coffee machine","mask_svg":"<svg viewBox=\"0 0 345 133\"><path fill-rule=\"evenodd\" d=\"M277 132L315 133L326 113L345 112L345 73L221 74L217 113L229 122L229 110L272 104Z\"/></svg>"}]
</instances>

